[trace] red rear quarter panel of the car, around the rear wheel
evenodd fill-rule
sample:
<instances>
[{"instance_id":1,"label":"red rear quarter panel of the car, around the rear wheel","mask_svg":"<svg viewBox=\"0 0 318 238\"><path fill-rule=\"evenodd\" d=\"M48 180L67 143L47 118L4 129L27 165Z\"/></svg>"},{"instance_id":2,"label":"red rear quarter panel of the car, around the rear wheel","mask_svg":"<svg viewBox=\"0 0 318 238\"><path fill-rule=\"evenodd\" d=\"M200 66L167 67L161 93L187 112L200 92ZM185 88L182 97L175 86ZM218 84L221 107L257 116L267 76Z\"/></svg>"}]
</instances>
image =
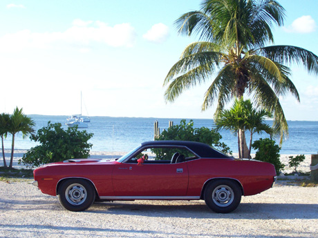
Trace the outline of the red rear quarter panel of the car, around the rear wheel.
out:
<instances>
[{"instance_id":1,"label":"red rear quarter panel of the car, around the rear wheel","mask_svg":"<svg viewBox=\"0 0 318 238\"><path fill-rule=\"evenodd\" d=\"M198 196L210 179L229 178L243 187L243 195L256 195L272 187L276 172L270 163L236 159L196 159L188 161L188 196Z\"/></svg>"}]
</instances>

